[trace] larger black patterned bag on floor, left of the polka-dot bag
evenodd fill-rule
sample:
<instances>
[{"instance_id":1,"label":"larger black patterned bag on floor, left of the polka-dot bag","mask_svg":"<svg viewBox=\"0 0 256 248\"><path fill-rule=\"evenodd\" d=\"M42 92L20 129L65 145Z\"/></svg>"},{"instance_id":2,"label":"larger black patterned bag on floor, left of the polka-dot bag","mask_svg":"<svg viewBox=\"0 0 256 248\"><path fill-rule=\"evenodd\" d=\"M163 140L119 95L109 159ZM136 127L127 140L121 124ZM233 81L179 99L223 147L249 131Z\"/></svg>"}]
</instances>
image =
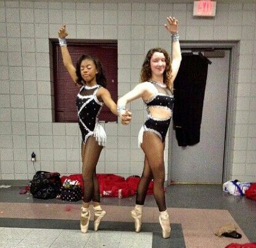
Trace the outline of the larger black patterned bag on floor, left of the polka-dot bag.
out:
<instances>
[{"instance_id":1,"label":"larger black patterned bag on floor, left of the polka-dot bag","mask_svg":"<svg viewBox=\"0 0 256 248\"><path fill-rule=\"evenodd\" d=\"M60 187L60 173L37 171L31 181L30 193L34 198L52 199L60 193Z\"/></svg>"}]
</instances>

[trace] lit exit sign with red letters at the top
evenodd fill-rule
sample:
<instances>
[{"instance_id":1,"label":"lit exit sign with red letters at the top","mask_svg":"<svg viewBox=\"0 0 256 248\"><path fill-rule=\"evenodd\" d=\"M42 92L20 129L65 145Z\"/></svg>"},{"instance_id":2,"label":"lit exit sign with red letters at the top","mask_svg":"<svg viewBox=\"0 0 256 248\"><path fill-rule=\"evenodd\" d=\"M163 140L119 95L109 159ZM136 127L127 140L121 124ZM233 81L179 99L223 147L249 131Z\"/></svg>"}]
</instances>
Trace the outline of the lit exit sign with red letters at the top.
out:
<instances>
[{"instance_id":1,"label":"lit exit sign with red letters at the top","mask_svg":"<svg viewBox=\"0 0 256 248\"><path fill-rule=\"evenodd\" d=\"M194 1L193 16L195 17L215 17L216 2L214 1Z\"/></svg>"}]
</instances>

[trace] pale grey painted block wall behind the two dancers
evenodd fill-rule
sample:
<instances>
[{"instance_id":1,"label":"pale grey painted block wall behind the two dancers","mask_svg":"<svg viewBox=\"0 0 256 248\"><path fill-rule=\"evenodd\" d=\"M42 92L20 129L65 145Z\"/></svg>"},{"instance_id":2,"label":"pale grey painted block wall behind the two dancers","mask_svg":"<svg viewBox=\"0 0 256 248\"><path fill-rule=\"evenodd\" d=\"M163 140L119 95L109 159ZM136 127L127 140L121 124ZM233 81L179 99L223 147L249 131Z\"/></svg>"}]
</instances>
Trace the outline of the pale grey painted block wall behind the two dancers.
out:
<instances>
[{"instance_id":1,"label":"pale grey painted block wall behind the two dancers","mask_svg":"<svg viewBox=\"0 0 256 248\"><path fill-rule=\"evenodd\" d=\"M256 3L220 0L215 18L207 19L193 17L192 10L190 1L178 0L159 4L1 1L0 179L31 179L38 169L63 174L82 169L77 124L52 123L48 38L56 38L60 25L67 25L73 39L117 39L118 95L122 96L138 83L149 48L161 46L171 52L163 24L168 15L174 15L184 41L239 41L229 176L256 180ZM142 101L129 107L133 110L131 125L104 125L108 143L98 172L123 176L142 172L144 155L138 149L137 135L146 113ZM33 151L35 168L28 161ZM166 150L165 158L167 154Z\"/></svg>"}]
</instances>

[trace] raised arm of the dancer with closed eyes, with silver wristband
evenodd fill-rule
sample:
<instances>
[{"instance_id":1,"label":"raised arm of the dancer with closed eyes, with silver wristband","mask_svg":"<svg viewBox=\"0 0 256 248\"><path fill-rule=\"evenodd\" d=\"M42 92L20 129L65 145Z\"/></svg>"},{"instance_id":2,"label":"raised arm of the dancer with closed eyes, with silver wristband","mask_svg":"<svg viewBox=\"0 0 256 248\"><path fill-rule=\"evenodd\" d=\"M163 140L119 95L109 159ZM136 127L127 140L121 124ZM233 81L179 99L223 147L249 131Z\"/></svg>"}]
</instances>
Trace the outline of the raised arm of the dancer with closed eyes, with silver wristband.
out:
<instances>
[{"instance_id":1,"label":"raised arm of the dancer with closed eyes, with silver wristband","mask_svg":"<svg viewBox=\"0 0 256 248\"><path fill-rule=\"evenodd\" d=\"M66 25L61 26L60 30L58 31L58 36L59 36L61 54L62 54L64 66L68 69L69 75L71 76L72 80L77 84L76 68L72 63L72 59L71 59L71 56L69 55L68 47L66 44L66 37L68 36L68 33L66 32ZM79 85L77 84L77 86Z\"/></svg>"}]
</instances>

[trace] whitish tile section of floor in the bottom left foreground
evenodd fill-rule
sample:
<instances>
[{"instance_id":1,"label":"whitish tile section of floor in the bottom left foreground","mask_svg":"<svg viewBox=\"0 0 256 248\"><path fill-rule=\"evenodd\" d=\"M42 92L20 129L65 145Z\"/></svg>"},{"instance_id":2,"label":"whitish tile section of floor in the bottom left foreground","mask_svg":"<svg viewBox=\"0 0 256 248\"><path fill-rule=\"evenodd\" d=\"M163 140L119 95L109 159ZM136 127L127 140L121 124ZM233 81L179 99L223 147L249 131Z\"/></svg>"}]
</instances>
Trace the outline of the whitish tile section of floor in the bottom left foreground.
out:
<instances>
[{"instance_id":1,"label":"whitish tile section of floor in the bottom left foreground","mask_svg":"<svg viewBox=\"0 0 256 248\"><path fill-rule=\"evenodd\" d=\"M88 231L79 230L36 229L36 228L2 228L0 230L0 247L151 247L152 233L139 233L134 236L131 231Z\"/></svg>"}]
</instances>

